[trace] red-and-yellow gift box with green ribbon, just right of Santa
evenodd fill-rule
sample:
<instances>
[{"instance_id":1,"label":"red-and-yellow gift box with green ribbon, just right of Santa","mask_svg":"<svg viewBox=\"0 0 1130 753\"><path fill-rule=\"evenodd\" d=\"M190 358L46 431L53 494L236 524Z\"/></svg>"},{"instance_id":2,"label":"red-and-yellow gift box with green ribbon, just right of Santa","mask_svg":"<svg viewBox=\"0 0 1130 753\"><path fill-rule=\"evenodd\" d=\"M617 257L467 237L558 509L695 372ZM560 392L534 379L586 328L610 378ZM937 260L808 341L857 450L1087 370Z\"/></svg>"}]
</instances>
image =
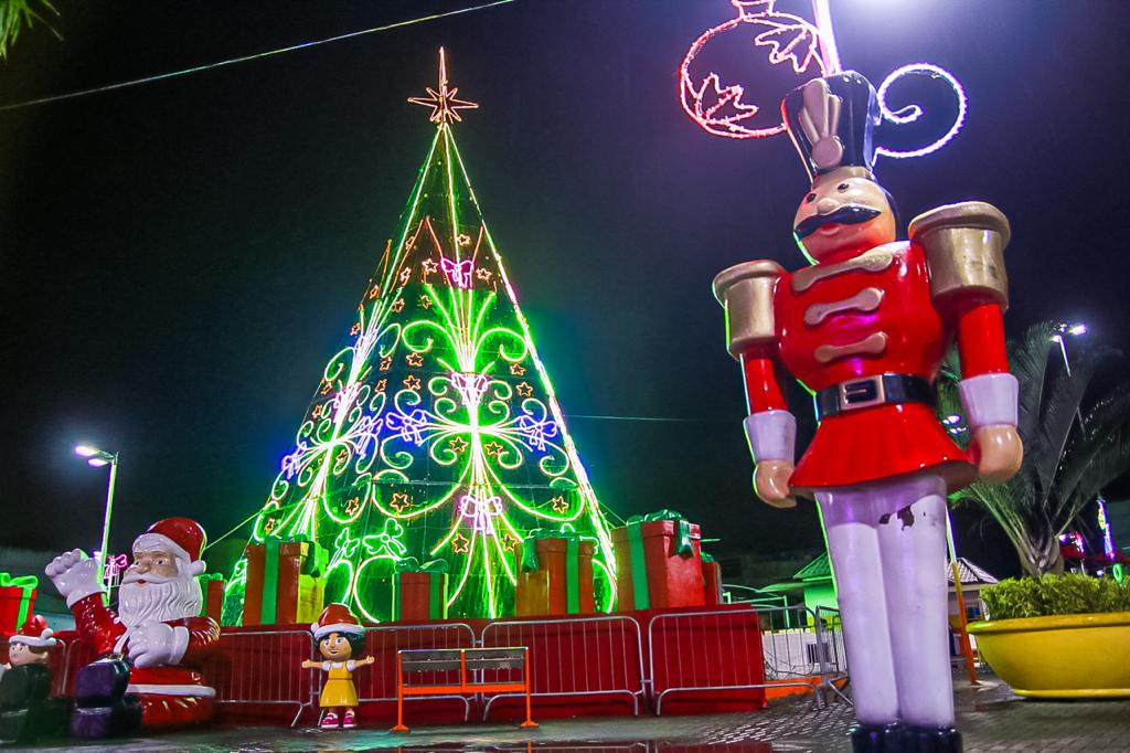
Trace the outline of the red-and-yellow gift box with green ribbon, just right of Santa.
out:
<instances>
[{"instance_id":1,"label":"red-and-yellow gift box with green ribbon, just right of Santa","mask_svg":"<svg viewBox=\"0 0 1130 753\"><path fill-rule=\"evenodd\" d=\"M327 552L313 542L269 538L247 544L244 625L307 625L324 606Z\"/></svg>"}]
</instances>

